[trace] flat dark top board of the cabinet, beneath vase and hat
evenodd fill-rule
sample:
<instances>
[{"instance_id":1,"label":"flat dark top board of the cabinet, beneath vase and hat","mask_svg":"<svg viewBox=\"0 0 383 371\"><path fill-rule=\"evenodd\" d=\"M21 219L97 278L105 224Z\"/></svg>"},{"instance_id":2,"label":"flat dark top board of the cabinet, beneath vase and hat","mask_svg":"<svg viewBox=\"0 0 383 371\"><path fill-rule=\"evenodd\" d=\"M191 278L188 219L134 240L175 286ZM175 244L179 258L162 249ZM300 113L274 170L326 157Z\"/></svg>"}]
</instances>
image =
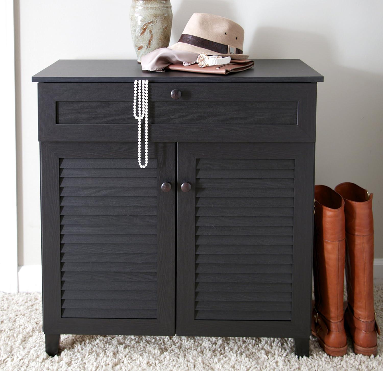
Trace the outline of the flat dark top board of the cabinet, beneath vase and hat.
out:
<instances>
[{"instance_id":1,"label":"flat dark top board of the cabinet, beneath vase and hat","mask_svg":"<svg viewBox=\"0 0 383 371\"><path fill-rule=\"evenodd\" d=\"M142 71L133 59L60 59L32 77L33 82L320 82L323 76L300 59L255 59L254 67L229 75Z\"/></svg>"}]
</instances>

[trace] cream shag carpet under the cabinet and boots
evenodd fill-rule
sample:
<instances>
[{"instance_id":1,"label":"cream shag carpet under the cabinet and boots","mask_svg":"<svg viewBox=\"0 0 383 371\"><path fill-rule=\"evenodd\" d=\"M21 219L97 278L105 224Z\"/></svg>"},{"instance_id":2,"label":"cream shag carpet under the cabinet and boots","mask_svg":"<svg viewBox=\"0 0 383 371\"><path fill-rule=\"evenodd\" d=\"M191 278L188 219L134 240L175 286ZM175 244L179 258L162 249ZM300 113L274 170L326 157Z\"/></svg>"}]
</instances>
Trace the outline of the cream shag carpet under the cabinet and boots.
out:
<instances>
[{"instance_id":1,"label":"cream shag carpet under the cabinet and boots","mask_svg":"<svg viewBox=\"0 0 383 371\"><path fill-rule=\"evenodd\" d=\"M383 324L383 285L375 287L375 310ZM310 357L297 358L288 338L217 338L62 335L61 353L45 353L41 294L0 293L0 370L383 370L378 356L329 357L315 338Z\"/></svg>"}]
</instances>

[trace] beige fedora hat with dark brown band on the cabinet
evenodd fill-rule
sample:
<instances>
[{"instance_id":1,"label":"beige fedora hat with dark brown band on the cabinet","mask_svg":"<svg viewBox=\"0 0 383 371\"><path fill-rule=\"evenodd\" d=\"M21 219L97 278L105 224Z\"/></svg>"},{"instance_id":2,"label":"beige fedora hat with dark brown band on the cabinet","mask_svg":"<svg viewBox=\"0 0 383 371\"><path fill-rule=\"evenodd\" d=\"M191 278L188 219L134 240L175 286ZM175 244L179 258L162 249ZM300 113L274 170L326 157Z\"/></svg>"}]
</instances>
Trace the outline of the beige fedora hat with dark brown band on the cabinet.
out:
<instances>
[{"instance_id":1,"label":"beige fedora hat with dark brown band on the cabinet","mask_svg":"<svg viewBox=\"0 0 383 371\"><path fill-rule=\"evenodd\" d=\"M228 18L194 13L178 42L169 48L232 59L247 59L249 56L242 53L244 34L244 29Z\"/></svg>"}]
</instances>

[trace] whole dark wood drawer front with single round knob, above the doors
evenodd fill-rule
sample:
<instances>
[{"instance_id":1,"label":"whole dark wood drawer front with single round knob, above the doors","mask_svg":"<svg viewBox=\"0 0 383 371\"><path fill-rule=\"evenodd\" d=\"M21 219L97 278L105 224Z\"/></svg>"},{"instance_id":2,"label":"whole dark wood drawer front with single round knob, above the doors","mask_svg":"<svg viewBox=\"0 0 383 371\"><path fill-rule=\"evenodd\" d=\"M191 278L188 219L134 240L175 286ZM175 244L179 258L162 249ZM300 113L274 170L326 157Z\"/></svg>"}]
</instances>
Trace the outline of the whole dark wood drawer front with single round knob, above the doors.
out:
<instances>
[{"instance_id":1,"label":"whole dark wood drawer front with single round knob, above the doors","mask_svg":"<svg viewBox=\"0 0 383 371\"><path fill-rule=\"evenodd\" d=\"M149 140L313 141L315 97L313 83L149 82ZM39 140L136 141L133 83L40 83Z\"/></svg>"}]
</instances>

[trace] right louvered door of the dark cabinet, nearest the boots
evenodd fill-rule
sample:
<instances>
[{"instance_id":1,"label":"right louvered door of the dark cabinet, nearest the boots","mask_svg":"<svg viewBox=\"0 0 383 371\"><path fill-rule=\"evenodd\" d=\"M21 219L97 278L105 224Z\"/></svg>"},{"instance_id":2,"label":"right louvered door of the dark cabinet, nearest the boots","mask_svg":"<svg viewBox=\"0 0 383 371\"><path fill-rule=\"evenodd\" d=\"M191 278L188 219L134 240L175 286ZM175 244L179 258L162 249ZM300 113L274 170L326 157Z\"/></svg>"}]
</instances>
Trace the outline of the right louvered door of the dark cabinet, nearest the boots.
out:
<instances>
[{"instance_id":1,"label":"right louvered door of the dark cabinet, nearest the boots","mask_svg":"<svg viewBox=\"0 0 383 371\"><path fill-rule=\"evenodd\" d=\"M308 338L313 143L180 143L177 174L177 335Z\"/></svg>"}]
</instances>

